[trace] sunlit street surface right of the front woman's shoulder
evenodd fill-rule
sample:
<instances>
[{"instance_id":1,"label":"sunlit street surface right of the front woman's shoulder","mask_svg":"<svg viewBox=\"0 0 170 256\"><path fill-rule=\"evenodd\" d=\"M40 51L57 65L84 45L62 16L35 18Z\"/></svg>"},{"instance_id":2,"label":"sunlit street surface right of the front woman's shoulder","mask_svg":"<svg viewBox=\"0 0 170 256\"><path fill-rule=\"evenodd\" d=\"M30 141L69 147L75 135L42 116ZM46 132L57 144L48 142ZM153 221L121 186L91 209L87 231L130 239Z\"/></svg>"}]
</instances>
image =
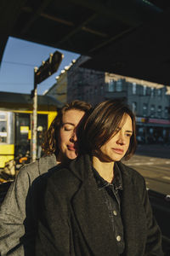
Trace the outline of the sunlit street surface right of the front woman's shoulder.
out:
<instances>
[{"instance_id":1,"label":"sunlit street surface right of the front woman's shoulder","mask_svg":"<svg viewBox=\"0 0 170 256\"><path fill-rule=\"evenodd\" d=\"M145 178L149 189L170 195L170 146L141 145L131 160L123 162Z\"/></svg>"}]
</instances>

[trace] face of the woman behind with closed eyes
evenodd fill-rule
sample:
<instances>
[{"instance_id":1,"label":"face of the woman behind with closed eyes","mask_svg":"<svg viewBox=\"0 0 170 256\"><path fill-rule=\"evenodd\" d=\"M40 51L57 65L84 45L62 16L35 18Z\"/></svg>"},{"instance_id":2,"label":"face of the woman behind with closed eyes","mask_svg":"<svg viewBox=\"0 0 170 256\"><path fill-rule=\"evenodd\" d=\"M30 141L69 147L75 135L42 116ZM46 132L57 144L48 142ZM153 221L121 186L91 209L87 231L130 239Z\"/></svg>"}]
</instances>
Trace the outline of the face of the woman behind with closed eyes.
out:
<instances>
[{"instance_id":1,"label":"face of the woman behind with closed eyes","mask_svg":"<svg viewBox=\"0 0 170 256\"><path fill-rule=\"evenodd\" d=\"M71 109L63 114L59 130L59 155L58 161L73 160L77 157L77 125L81 121L84 111Z\"/></svg>"}]
</instances>

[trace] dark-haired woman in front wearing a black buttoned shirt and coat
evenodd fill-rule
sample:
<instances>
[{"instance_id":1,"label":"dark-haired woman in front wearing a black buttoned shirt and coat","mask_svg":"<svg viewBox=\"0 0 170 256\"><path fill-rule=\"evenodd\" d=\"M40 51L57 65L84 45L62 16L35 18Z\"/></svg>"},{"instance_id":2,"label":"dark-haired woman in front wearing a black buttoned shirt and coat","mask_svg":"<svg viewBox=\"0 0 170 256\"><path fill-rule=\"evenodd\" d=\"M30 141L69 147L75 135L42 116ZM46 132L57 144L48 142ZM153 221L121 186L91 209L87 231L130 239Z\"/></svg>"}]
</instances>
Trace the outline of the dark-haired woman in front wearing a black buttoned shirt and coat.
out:
<instances>
[{"instance_id":1,"label":"dark-haired woman in front wearing a black buttoned shirt and coat","mask_svg":"<svg viewBox=\"0 0 170 256\"><path fill-rule=\"evenodd\" d=\"M36 255L163 255L144 178L121 162L136 148L132 111L100 103L82 137L86 154L48 177Z\"/></svg>"}]
</instances>

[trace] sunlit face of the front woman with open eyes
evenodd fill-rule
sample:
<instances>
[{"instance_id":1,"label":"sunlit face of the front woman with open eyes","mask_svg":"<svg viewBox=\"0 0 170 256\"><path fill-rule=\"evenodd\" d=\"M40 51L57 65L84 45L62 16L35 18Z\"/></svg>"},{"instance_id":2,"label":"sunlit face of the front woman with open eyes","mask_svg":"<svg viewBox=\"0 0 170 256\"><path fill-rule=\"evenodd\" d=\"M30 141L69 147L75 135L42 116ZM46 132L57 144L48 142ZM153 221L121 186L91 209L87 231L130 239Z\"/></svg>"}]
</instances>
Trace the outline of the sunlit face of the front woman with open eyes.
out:
<instances>
[{"instance_id":1,"label":"sunlit face of the front woman with open eyes","mask_svg":"<svg viewBox=\"0 0 170 256\"><path fill-rule=\"evenodd\" d=\"M120 129L120 127L122 128ZM117 127L120 131L99 148L98 157L100 160L106 162L119 161L127 153L130 138L133 135L132 119L128 114L123 116L120 127Z\"/></svg>"}]
</instances>

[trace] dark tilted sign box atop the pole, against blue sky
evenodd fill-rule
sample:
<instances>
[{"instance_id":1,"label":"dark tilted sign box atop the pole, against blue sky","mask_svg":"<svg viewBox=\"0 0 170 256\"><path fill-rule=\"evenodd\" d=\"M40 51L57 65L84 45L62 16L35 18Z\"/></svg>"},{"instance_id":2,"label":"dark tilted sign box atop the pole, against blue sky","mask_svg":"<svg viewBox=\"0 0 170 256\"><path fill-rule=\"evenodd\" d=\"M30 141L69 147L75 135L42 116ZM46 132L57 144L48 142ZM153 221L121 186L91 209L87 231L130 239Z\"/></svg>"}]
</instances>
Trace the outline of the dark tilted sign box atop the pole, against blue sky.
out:
<instances>
[{"instance_id":1,"label":"dark tilted sign box atop the pole, against blue sky","mask_svg":"<svg viewBox=\"0 0 170 256\"><path fill-rule=\"evenodd\" d=\"M48 79L49 76L55 73L63 57L64 55L56 50L54 54L50 54L47 61L42 61L42 66L35 71L35 84L40 84L43 80Z\"/></svg>"}]
</instances>

